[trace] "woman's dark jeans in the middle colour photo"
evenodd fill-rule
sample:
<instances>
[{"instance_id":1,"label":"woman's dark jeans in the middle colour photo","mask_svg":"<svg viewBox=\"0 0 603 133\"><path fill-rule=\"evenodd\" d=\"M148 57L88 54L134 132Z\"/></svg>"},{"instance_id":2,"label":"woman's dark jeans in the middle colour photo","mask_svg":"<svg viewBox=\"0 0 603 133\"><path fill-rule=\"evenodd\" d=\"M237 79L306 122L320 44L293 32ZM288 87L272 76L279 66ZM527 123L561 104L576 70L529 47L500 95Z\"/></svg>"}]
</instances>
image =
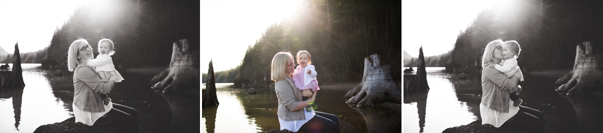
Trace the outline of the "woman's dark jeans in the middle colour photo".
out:
<instances>
[{"instance_id":1,"label":"woman's dark jeans in the middle colour photo","mask_svg":"<svg viewBox=\"0 0 603 133\"><path fill-rule=\"evenodd\" d=\"M339 132L339 119L329 113L314 111L316 116L301 125L303 132Z\"/></svg>"}]
</instances>

